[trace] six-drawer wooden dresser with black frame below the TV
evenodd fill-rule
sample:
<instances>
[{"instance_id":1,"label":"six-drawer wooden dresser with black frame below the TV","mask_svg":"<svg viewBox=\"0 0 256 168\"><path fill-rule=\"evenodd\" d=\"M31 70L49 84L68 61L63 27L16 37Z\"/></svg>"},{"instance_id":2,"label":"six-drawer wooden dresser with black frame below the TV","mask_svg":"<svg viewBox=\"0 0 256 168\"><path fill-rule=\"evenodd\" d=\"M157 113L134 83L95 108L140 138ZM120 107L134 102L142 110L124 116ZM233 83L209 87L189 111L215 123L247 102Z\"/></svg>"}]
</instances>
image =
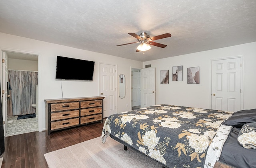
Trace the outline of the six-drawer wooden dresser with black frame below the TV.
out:
<instances>
[{"instance_id":1,"label":"six-drawer wooden dresser with black frame below the TV","mask_svg":"<svg viewBox=\"0 0 256 168\"><path fill-rule=\"evenodd\" d=\"M104 97L46 99L46 133L103 122Z\"/></svg>"}]
</instances>

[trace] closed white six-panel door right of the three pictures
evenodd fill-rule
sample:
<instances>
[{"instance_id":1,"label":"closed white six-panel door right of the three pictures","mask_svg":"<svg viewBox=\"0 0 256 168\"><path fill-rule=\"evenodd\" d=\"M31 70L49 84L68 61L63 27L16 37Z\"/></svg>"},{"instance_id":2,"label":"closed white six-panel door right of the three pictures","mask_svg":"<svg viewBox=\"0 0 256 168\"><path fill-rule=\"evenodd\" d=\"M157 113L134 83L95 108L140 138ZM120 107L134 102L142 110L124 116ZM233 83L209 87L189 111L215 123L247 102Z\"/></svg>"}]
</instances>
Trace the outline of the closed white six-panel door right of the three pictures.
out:
<instances>
[{"instance_id":1,"label":"closed white six-panel door right of the three pictures","mask_svg":"<svg viewBox=\"0 0 256 168\"><path fill-rule=\"evenodd\" d=\"M212 109L241 110L241 58L212 61Z\"/></svg>"}]
</instances>

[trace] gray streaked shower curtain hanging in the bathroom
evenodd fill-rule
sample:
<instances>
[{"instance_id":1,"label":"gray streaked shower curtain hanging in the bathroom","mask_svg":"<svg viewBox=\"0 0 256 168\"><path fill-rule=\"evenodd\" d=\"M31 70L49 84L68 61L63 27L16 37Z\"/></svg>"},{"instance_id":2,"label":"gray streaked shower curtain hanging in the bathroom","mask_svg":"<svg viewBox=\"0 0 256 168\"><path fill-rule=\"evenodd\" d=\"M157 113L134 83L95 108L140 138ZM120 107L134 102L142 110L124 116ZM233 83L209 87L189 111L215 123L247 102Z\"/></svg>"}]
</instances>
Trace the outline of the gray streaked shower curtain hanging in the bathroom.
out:
<instances>
[{"instance_id":1,"label":"gray streaked shower curtain hanging in the bathroom","mask_svg":"<svg viewBox=\"0 0 256 168\"><path fill-rule=\"evenodd\" d=\"M36 109L36 85L38 72L9 70L9 84L11 88L12 115L32 114Z\"/></svg>"}]
</instances>

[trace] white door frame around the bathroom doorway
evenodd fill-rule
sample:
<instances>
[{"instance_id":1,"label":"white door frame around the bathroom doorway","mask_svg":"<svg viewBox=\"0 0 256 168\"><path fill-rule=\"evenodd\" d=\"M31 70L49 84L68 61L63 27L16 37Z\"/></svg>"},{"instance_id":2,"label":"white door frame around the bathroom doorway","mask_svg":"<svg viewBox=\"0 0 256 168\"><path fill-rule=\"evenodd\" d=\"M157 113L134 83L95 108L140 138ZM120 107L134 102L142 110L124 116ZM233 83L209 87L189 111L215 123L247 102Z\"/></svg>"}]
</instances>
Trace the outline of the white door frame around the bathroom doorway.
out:
<instances>
[{"instance_id":1,"label":"white door frame around the bathroom doorway","mask_svg":"<svg viewBox=\"0 0 256 168\"><path fill-rule=\"evenodd\" d=\"M29 55L37 55L38 57L38 131L42 132L43 131L42 130L42 54L36 53L33 51L0 48L0 60L2 60L3 52L23 53L23 54L29 54ZM2 63L0 65L0 79L1 79L1 82L6 82L6 81L3 81L3 78L2 78ZM1 85L1 90L3 90L2 85ZM2 103L3 103L3 99L2 99Z\"/></svg>"}]
</instances>

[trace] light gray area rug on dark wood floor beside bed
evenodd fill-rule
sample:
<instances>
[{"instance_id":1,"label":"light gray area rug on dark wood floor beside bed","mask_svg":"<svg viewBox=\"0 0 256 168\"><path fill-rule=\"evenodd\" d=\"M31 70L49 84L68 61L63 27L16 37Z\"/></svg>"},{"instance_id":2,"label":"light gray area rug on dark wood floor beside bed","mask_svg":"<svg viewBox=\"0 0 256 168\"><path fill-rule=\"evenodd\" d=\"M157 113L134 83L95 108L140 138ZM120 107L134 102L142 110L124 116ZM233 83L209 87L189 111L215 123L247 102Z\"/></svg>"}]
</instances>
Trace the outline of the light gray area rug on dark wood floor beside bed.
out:
<instances>
[{"instance_id":1,"label":"light gray area rug on dark wood floor beside bed","mask_svg":"<svg viewBox=\"0 0 256 168\"><path fill-rule=\"evenodd\" d=\"M61 143L61 142L60 142ZM162 168L162 166L108 137L101 137L44 154L49 168Z\"/></svg>"}]
</instances>

